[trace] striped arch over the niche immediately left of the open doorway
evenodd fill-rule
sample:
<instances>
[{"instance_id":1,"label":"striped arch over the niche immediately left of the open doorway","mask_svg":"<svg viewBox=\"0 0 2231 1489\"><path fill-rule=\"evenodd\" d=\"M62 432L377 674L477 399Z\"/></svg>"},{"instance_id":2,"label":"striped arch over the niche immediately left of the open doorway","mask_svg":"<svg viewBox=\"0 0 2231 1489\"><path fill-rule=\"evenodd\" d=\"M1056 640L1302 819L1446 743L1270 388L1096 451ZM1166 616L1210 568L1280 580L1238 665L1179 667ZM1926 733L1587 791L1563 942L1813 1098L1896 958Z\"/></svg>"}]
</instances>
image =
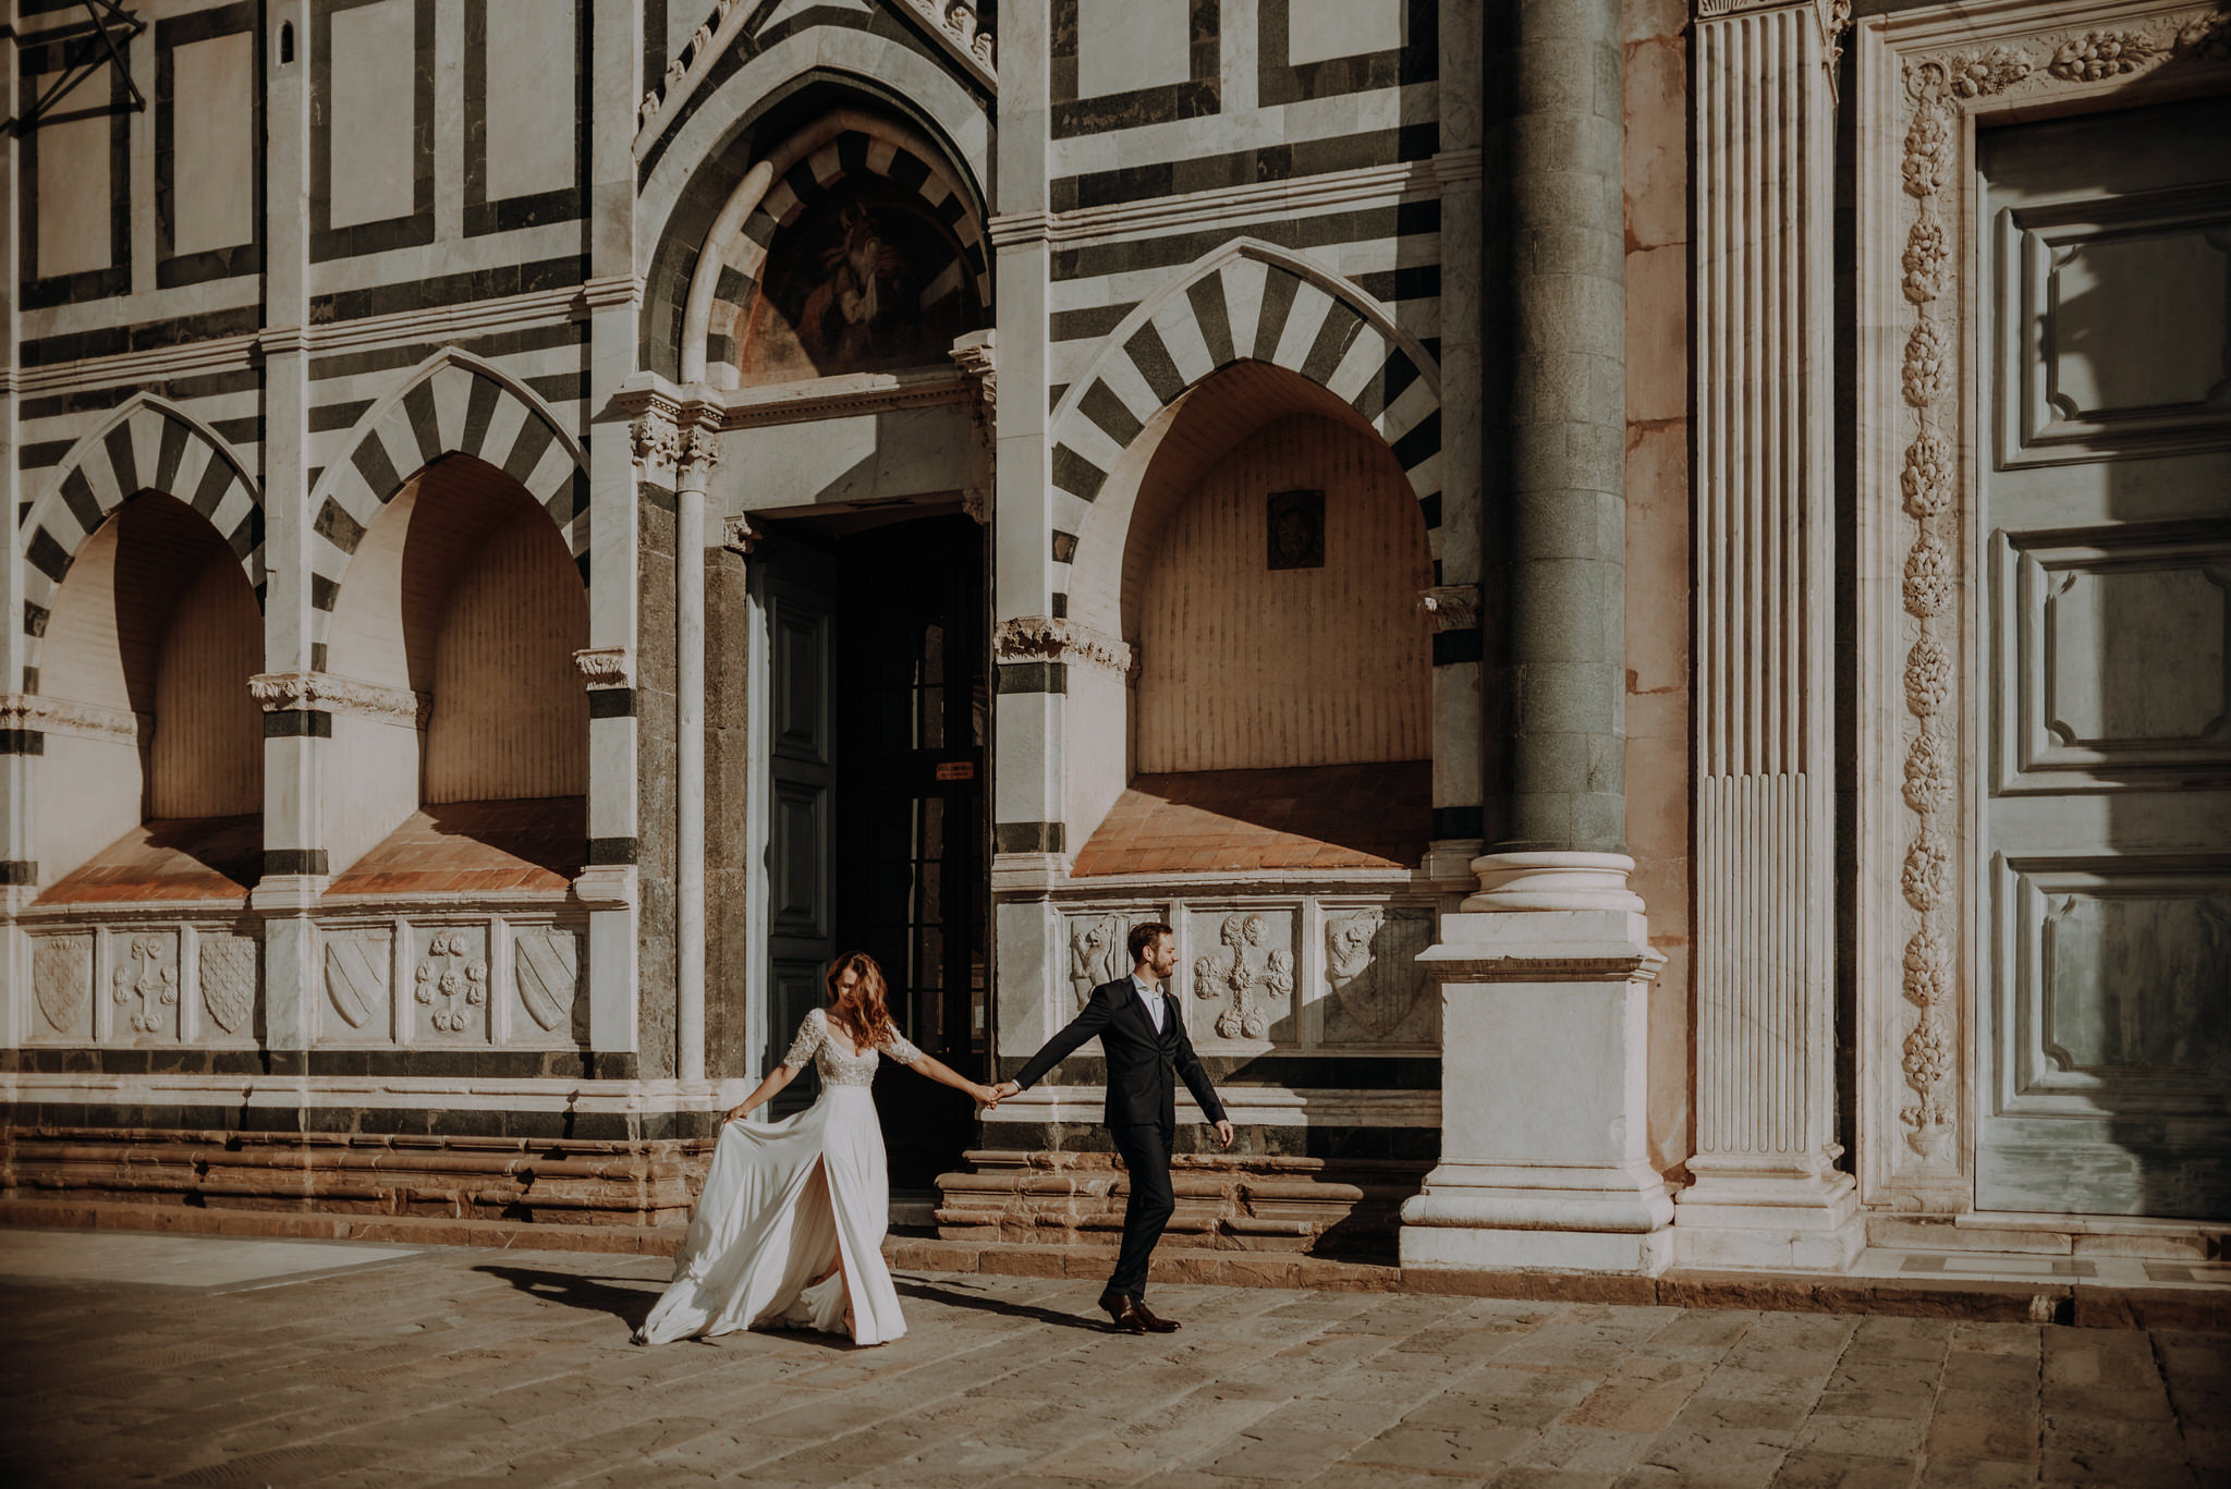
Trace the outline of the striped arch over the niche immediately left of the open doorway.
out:
<instances>
[{"instance_id":1,"label":"striped arch over the niche immediately left of the open doorway","mask_svg":"<svg viewBox=\"0 0 2231 1489\"><path fill-rule=\"evenodd\" d=\"M341 580L366 529L442 455L471 455L520 482L589 580L589 467L529 388L466 353L437 353L348 433L310 493L310 638L328 641Z\"/></svg>"}]
</instances>

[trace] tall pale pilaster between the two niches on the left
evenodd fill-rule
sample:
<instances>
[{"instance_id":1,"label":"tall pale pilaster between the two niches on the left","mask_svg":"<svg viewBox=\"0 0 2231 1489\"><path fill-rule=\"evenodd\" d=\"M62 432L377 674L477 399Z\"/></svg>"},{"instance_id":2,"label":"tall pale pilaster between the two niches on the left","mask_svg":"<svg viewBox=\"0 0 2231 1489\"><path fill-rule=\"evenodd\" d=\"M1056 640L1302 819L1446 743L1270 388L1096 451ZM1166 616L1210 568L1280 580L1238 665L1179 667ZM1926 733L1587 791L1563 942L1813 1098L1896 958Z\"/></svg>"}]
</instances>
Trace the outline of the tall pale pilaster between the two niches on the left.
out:
<instances>
[{"instance_id":1,"label":"tall pale pilaster between the two niches on the left","mask_svg":"<svg viewBox=\"0 0 2231 1489\"><path fill-rule=\"evenodd\" d=\"M310 641L310 7L272 4L277 36L294 27L294 60L263 54L263 674L323 672ZM310 913L326 891L323 777L332 712L308 697L263 714L263 1031L270 1049L308 1049L323 969ZM286 1069L274 1060L274 1074Z\"/></svg>"}]
</instances>

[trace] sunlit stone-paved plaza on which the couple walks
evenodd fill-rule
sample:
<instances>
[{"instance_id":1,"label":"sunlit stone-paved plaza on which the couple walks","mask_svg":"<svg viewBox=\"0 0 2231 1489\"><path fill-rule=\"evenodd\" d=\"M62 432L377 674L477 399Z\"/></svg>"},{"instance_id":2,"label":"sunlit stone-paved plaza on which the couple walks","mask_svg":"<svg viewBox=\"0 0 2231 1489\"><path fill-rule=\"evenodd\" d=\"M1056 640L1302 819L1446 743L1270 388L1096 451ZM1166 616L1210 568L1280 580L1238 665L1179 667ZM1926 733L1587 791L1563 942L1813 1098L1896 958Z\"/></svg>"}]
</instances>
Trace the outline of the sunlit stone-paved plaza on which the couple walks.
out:
<instances>
[{"instance_id":1,"label":"sunlit stone-paved plaza on which the couple walks","mask_svg":"<svg viewBox=\"0 0 2231 1489\"><path fill-rule=\"evenodd\" d=\"M901 1272L640 1351L660 1259L0 1232L0 1482L2231 1482L2231 1335ZM109 1281L116 1279L116 1281Z\"/></svg>"}]
</instances>

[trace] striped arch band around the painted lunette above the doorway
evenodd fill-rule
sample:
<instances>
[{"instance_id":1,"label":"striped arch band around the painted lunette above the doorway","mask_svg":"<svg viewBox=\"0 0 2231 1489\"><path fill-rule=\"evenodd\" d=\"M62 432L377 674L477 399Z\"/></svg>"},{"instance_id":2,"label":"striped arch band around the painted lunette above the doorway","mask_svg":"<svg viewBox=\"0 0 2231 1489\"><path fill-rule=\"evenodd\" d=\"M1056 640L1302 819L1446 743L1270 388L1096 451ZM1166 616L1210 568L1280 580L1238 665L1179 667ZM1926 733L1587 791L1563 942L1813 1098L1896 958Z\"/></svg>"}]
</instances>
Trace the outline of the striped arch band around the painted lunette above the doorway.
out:
<instances>
[{"instance_id":1,"label":"striped arch band around the painted lunette above the doorway","mask_svg":"<svg viewBox=\"0 0 2231 1489\"><path fill-rule=\"evenodd\" d=\"M962 259L975 277L977 304L991 308L991 254L984 243L984 225L959 185L941 165L897 141L846 129L785 170L730 241L707 243L709 252L718 252L721 263L705 353L705 377L714 386L736 386L734 357L743 315L767 266L774 234L794 225L814 201L828 196L848 176L883 176L919 194L930 217L946 223L959 239Z\"/></svg>"}]
</instances>

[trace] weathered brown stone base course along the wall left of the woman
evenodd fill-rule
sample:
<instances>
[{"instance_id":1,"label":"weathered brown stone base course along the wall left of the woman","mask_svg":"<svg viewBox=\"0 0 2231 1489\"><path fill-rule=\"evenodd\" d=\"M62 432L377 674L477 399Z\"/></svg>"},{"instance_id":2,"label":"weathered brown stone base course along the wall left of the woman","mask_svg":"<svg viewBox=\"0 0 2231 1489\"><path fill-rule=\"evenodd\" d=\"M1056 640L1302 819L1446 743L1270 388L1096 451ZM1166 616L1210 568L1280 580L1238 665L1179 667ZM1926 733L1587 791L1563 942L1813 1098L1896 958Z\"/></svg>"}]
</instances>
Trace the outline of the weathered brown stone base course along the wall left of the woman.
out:
<instances>
[{"instance_id":1,"label":"weathered brown stone base course along the wall left of the woman","mask_svg":"<svg viewBox=\"0 0 2231 1489\"><path fill-rule=\"evenodd\" d=\"M0 1194L317 1214L685 1221L709 1143L0 1127Z\"/></svg>"}]
</instances>

